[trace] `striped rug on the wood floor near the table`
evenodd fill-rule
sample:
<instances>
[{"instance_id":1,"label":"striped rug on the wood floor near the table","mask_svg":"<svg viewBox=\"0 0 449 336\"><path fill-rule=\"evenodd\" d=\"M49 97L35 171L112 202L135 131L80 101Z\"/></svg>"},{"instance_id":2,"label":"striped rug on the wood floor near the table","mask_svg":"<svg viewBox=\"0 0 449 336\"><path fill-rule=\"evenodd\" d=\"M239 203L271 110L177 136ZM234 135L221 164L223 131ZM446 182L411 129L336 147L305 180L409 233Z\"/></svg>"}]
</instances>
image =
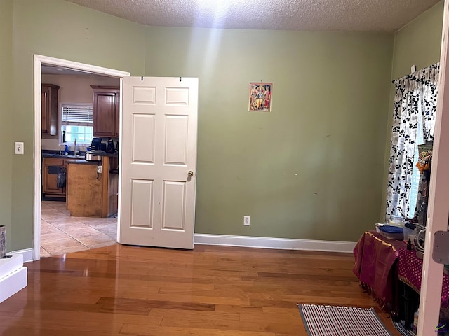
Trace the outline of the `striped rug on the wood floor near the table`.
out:
<instances>
[{"instance_id":1,"label":"striped rug on the wood floor near the table","mask_svg":"<svg viewBox=\"0 0 449 336\"><path fill-rule=\"evenodd\" d=\"M298 304L309 336L391 336L374 308Z\"/></svg>"}]
</instances>

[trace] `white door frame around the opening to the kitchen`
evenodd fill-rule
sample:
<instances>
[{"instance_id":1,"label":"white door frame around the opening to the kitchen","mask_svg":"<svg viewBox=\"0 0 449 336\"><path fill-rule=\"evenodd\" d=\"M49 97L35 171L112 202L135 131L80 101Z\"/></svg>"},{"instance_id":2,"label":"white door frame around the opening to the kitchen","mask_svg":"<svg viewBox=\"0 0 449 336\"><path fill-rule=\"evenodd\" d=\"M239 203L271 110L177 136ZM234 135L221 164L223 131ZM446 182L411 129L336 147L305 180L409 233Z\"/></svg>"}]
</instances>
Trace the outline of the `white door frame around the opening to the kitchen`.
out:
<instances>
[{"instance_id":1,"label":"white door frame around the opening to the kitchen","mask_svg":"<svg viewBox=\"0 0 449 336\"><path fill-rule=\"evenodd\" d=\"M42 162L41 162L41 66L42 64L61 66L69 69L86 71L94 75L109 76L120 78L130 76L129 72L103 68L91 64L72 62L67 59L59 59L43 55L34 54L34 246L33 260L41 258L41 179L42 179ZM121 128L122 108L120 99L120 128ZM123 134L121 134L123 137ZM119 139L121 142L121 138ZM119 148L121 144L119 144ZM121 172L121 153L119 152L119 174ZM119 198L120 198L120 176L119 176ZM119 199L120 202L120 199ZM120 213L117 220L117 232L120 232ZM118 240L118 239L117 239Z\"/></svg>"}]
</instances>

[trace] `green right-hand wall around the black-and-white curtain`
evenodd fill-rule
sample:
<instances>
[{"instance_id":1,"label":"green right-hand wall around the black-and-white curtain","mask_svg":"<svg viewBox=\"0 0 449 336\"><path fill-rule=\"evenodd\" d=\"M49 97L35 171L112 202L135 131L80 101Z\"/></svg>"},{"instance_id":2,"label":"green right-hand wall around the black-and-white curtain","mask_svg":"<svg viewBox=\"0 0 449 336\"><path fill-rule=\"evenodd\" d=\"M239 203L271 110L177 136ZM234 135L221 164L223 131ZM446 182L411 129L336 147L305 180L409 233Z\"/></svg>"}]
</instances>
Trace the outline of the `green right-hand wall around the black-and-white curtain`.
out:
<instances>
[{"instance_id":1,"label":"green right-hand wall around the black-and-white curtain","mask_svg":"<svg viewBox=\"0 0 449 336\"><path fill-rule=\"evenodd\" d=\"M416 65L420 70L440 62L441 32L443 29L444 1L422 13L418 18L403 27L394 36L393 64L391 80L401 78L410 73L410 67ZM384 155L384 182L382 183L382 207L380 218L385 216L385 202L387 193L391 123L393 121L394 85L390 84L389 116L387 122L387 141Z\"/></svg>"}]
</instances>

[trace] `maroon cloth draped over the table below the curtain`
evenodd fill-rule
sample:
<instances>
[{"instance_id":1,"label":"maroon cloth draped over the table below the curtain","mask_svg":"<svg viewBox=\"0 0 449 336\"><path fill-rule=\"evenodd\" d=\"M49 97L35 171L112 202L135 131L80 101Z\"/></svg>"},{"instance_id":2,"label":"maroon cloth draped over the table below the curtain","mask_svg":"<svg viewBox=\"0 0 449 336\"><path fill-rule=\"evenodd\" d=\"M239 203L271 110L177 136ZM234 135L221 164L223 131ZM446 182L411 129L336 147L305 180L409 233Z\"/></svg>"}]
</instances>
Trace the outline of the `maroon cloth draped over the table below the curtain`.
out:
<instances>
[{"instance_id":1,"label":"maroon cloth draped over the table below the curtain","mask_svg":"<svg viewBox=\"0 0 449 336\"><path fill-rule=\"evenodd\" d=\"M375 297L381 309L396 316L399 309L398 281L418 294L421 288L422 259L402 240L366 231L354 248L354 274L363 289ZM449 308L449 276L443 276L441 308Z\"/></svg>"}]
</instances>

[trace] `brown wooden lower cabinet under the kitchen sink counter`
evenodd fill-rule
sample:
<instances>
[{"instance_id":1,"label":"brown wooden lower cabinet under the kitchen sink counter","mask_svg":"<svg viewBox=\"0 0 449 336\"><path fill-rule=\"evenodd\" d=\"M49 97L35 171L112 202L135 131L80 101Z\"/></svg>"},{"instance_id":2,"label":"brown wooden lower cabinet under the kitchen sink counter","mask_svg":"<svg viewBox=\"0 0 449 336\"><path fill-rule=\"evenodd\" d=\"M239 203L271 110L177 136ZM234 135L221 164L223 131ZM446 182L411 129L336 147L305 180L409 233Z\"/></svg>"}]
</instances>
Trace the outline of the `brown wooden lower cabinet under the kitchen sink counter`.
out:
<instances>
[{"instance_id":1,"label":"brown wooden lower cabinet under the kitchen sink counter","mask_svg":"<svg viewBox=\"0 0 449 336\"><path fill-rule=\"evenodd\" d=\"M42 193L43 196L65 197L65 186L58 188L58 170L67 168L67 159L43 158Z\"/></svg>"}]
</instances>

